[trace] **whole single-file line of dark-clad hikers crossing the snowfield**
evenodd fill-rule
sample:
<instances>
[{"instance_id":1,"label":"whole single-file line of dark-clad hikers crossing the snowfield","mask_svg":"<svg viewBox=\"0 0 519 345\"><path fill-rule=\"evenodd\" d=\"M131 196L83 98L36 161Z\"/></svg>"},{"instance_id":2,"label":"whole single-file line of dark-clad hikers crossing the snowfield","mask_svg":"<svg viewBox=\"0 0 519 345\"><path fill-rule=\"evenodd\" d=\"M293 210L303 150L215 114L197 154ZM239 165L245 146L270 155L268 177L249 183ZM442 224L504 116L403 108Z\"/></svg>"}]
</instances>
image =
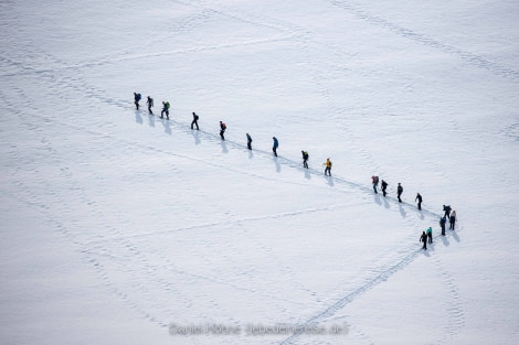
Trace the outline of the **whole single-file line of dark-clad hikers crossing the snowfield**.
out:
<instances>
[{"instance_id":1,"label":"whole single-file line of dark-clad hikers crossing the snowfield","mask_svg":"<svg viewBox=\"0 0 519 345\"><path fill-rule=\"evenodd\" d=\"M137 110L139 110L139 101L141 99L141 95L138 94L138 93L134 93L134 103L135 103L135 107ZM153 115L153 111L151 110L151 108L153 107L153 98L151 98L150 96L148 96L148 99L146 101L147 106L148 106L148 111L150 115ZM162 119L163 116L166 115L166 118L169 120L169 108L170 108L170 104L169 101L162 101L162 111L160 112L160 118ZM194 126L197 127L197 130L200 130L199 128L199 119L200 117L193 111L192 112L193 115L193 120L191 121L191 129L194 129ZM223 121L220 121L220 138L222 140L225 140L225 130L227 129L227 126L223 122ZM252 137L251 134L246 133L246 139L247 139L247 149L248 150L252 150ZM279 141L277 140L276 137L272 137L274 143L273 143L273 147L272 147L272 151L274 153L275 157L277 157L277 148L279 147ZM301 151L301 154L303 154L303 166L308 169L308 151L305 151L303 150ZM322 165L325 166L325 175L326 176L331 176L331 161L330 159L328 158L326 160L325 163L322 163ZM379 186L379 176L371 176L371 183L373 184L373 192L375 194L379 194L378 192L378 186ZM386 190L388 190L388 182L385 182L384 180L381 181L381 191L382 191L382 194L385 195L388 194L386 193ZM396 197L399 198L399 203L402 203L402 193L404 192L404 188L402 187L401 183L399 182L399 185L396 187ZM419 202L417 203L417 207L421 211L422 209L422 202L423 202L423 198L422 198L422 195L420 195L420 193L416 193L416 197L414 198L414 201ZM442 228L442 236L445 236L445 225L447 223L447 219L451 224L451 229L454 230L454 226L455 226L455 223L456 223L456 211L452 211L451 206L445 206L443 205L443 211L445 212L445 215L439 218L439 226ZM452 214L451 214L451 211L452 211ZM420 237L420 241L423 241L424 242L424 246L423 246L423 249L427 249L427 245L426 245L426 240L428 238L428 242L432 244L433 242L433 229L430 227L427 229L427 233L423 231L422 236ZM425 239L424 239L425 238Z\"/></svg>"}]
</instances>

